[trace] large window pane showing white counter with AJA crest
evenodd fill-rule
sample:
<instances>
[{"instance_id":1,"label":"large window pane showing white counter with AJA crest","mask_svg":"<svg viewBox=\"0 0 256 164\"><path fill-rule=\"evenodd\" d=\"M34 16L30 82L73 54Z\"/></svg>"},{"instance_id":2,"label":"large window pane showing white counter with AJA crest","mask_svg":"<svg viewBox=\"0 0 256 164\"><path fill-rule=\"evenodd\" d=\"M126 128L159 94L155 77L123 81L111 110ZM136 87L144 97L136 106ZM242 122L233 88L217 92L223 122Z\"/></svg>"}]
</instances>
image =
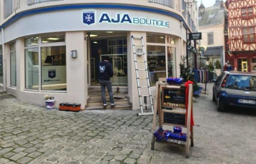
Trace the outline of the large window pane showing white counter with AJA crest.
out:
<instances>
[{"instance_id":1,"label":"large window pane showing white counter with AJA crest","mask_svg":"<svg viewBox=\"0 0 256 164\"><path fill-rule=\"evenodd\" d=\"M66 46L41 47L41 89L67 90Z\"/></svg>"}]
</instances>

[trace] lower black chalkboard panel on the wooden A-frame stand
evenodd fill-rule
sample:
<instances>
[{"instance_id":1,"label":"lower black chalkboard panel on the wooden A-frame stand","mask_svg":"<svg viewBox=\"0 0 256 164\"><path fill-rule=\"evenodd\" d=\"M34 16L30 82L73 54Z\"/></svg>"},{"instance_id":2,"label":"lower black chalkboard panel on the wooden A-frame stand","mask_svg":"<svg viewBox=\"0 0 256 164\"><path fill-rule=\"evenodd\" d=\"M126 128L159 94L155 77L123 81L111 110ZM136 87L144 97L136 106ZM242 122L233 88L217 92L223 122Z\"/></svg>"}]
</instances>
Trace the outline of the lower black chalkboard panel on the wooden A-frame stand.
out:
<instances>
[{"instance_id":1,"label":"lower black chalkboard panel on the wooden A-frame stand","mask_svg":"<svg viewBox=\"0 0 256 164\"><path fill-rule=\"evenodd\" d=\"M163 112L163 124L186 126L186 114Z\"/></svg>"}]
</instances>

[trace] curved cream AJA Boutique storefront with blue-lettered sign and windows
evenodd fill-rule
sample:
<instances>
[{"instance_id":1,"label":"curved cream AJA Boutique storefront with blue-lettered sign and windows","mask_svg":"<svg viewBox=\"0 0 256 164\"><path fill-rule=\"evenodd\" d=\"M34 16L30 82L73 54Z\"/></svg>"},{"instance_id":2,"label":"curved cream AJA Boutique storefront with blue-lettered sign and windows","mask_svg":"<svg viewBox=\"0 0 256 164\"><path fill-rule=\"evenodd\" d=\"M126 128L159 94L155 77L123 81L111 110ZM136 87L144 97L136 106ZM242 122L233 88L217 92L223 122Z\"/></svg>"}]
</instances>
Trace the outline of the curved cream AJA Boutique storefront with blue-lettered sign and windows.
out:
<instances>
[{"instance_id":1,"label":"curved cream AJA Boutique storefront with blue-lettered sign and windows","mask_svg":"<svg viewBox=\"0 0 256 164\"><path fill-rule=\"evenodd\" d=\"M178 77L186 54L186 27L178 14L146 7L74 5L23 12L1 30L0 90L44 105L44 95L86 108L100 92L97 65L110 57L113 91L139 109L131 36L143 36L151 89L160 77ZM140 44L136 40L135 44ZM138 56L142 58L142 56Z\"/></svg>"}]
</instances>

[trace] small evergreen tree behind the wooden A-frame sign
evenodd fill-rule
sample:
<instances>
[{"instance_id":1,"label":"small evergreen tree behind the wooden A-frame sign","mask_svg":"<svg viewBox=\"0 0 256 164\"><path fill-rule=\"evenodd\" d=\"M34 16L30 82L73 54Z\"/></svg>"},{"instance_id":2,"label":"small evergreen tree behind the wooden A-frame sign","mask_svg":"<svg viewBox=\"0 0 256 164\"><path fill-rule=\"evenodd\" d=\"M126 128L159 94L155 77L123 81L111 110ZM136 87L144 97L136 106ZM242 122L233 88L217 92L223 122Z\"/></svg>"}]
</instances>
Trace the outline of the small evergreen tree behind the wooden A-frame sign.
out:
<instances>
[{"instance_id":1,"label":"small evergreen tree behind the wooden A-frame sign","mask_svg":"<svg viewBox=\"0 0 256 164\"><path fill-rule=\"evenodd\" d=\"M180 63L180 77L184 79L184 82L192 81L193 82L193 91L200 89L200 85L197 84L194 78L194 74L191 73L191 66L187 66L186 57L182 57L182 63ZM195 95L194 95L195 96Z\"/></svg>"}]
</instances>

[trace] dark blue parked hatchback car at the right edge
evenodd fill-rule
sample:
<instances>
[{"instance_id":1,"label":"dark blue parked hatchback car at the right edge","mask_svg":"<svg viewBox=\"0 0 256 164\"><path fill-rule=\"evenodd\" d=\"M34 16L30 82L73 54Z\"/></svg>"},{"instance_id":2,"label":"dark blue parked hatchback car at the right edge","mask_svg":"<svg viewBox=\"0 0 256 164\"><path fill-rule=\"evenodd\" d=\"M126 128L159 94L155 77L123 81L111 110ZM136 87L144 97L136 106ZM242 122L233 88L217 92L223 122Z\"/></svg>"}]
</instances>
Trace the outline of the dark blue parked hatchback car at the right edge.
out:
<instances>
[{"instance_id":1,"label":"dark blue parked hatchback car at the right edge","mask_svg":"<svg viewBox=\"0 0 256 164\"><path fill-rule=\"evenodd\" d=\"M256 109L256 73L224 71L212 90L219 112L229 106Z\"/></svg>"}]
</instances>

